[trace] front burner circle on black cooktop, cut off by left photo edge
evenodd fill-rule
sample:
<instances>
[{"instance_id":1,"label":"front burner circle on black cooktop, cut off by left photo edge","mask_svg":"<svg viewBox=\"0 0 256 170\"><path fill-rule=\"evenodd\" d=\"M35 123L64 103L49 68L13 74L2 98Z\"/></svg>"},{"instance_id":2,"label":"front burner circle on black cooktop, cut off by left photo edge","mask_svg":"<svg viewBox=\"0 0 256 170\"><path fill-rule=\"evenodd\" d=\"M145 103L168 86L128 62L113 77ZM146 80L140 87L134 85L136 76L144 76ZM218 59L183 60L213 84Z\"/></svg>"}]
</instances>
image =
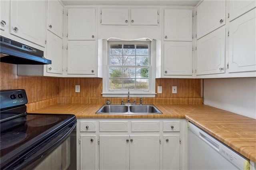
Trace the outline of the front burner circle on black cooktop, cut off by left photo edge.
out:
<instances>
[{"instance_id":1,"label":"front burner circle on black cooktop, cut off by left photo edge","mask_svg":"<svg viewBox=\"0 0 256 170\"><path fill-rule=\"evenodd\" d=\"M28 135L25 132L7 132L1 134L0 149L8 148L24 140Z\"/></svg>"}]
</instances>

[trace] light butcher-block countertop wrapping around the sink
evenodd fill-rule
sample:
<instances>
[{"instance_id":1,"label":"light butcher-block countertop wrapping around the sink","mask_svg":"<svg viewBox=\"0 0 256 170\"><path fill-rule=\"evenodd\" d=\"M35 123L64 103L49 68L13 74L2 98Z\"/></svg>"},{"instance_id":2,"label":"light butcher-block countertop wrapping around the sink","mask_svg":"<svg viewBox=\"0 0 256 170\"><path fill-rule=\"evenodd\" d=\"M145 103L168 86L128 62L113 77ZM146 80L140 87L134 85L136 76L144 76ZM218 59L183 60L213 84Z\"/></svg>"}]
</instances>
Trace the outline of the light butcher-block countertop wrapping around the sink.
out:
<instances>
[{"instance_id":1,"label":"light butcher-block countertop wrapping around the sink","mask_svg":"<svg viewBox=\"0 0 256 170\"><path fill-rule=\"evenodd\" d=\"M256 162L256 119L207 105L155 105L163 114L96 114L101 104L59 103L30 113L74 114L77 118L186 118L246 158Z\"/></svg>"}]
</instances>

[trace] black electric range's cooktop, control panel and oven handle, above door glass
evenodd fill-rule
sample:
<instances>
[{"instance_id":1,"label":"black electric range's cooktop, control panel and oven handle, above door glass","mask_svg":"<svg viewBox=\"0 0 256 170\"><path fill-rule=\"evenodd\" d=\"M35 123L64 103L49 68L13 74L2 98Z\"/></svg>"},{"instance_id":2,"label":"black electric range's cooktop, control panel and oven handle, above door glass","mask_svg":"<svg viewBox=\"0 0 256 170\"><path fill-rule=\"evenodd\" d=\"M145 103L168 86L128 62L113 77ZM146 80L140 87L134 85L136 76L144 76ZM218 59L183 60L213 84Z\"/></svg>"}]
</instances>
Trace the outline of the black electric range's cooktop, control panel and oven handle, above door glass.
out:
<instances>
[{"instance_id":1,"label":"black electric range's cooktop, control panel and oven handle, above door glass","mask_svg":"<svg viewBox=\"0 0 256 170\"><path fill-rule=\"evenodd\" d=\"M0 169L33 169L76 126L75 115L26 112L23 89L0 91Z\"/></svg>"}]
</instances>

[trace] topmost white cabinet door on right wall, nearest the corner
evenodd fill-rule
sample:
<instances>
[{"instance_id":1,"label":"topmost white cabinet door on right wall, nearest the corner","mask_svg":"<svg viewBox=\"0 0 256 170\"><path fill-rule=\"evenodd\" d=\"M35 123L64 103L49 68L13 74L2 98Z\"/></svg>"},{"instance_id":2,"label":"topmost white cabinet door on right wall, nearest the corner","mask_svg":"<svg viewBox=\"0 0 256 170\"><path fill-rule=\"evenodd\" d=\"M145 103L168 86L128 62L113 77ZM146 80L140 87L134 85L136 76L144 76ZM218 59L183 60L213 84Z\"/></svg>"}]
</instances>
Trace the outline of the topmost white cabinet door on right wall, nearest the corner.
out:
<instances>
[{"instance_id":1,"label":"topmost white cabinet door on right wall, nearest the corner","mask_svg":"<svg viewBox=\"0 0 256 170\"><path fill-rule=\"evenodd\" d=\"M225 25L225 0L204 0L197 7L197 39Z\"/></svg>"}]
</instances>

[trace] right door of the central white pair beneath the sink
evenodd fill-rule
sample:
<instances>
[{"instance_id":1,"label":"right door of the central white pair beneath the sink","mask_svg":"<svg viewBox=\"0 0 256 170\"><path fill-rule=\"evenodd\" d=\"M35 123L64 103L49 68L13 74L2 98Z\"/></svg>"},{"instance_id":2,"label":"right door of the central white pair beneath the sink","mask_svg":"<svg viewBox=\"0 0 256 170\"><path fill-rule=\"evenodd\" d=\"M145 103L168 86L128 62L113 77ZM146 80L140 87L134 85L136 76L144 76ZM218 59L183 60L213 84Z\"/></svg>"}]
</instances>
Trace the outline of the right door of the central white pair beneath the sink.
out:
<instances>
[{"instance_id":1,"label":"right door of the central white pair beneath the sink","mask_svg":"<svg viewBox=\"0 0 256 170\"><path fill-rule=\"evenodd\" d=\"M160 169L159 135L130 135L130 169Z\"/></svg>"}]
</instances>

